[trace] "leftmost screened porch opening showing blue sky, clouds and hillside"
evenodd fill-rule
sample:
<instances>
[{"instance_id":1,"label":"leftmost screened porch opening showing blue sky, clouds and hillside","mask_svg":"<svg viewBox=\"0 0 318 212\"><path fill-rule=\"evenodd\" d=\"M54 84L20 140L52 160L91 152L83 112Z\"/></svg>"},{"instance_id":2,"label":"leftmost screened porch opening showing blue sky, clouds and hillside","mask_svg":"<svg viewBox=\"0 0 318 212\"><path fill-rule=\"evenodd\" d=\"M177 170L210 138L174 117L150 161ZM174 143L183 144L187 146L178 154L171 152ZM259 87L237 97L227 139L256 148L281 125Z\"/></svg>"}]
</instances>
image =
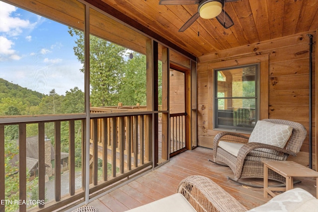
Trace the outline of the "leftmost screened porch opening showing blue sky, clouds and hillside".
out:
<instances>
[{"instance_id":1,"label":"leftmost screened porch opening showing blue sky, clouds and hillside","mask_svg":"<svg viewBox=\"0 0 318 212\"><path fill-rule=\"evenodd\" d=\"M79 17L73 27L83 30L84 5L73 3ZM0 8L0 22L11 23L0 29L0 116L84 113L84 74L71 23L2 1Z\"/></svg>"}]
</instances>

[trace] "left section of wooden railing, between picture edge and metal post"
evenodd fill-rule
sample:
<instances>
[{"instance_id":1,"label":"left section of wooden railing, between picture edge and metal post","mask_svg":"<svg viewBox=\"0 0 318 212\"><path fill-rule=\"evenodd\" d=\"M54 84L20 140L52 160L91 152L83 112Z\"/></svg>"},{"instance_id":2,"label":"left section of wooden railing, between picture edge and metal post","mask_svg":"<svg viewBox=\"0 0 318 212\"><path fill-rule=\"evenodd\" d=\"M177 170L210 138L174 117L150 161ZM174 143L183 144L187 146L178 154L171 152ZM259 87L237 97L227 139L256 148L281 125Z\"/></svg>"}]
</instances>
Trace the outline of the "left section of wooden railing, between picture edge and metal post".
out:
<instances>
[{"instance_id":1,"label":"left section of wooden railing, between picture edge and metal post","mask_svg":"<svg viewBox=\"0 0 318 212\"><path fill-rule=\"evenodd\" d=\"M41 117L40 119L42 119ZM75 130L75 122L80 122L81 126L83 127L84 119L63 119L63 118L56 118L55 116L49 117L49 119L57 119L54 121L38 121L38 122L19 122L14 124L0 124L0 199L6 200L6 204L0 205L0 211L11 211L12 205L17 205L18 210L20 212L25 212L27 209L30 211L53 211L55 209L61 208L63 206L66 206L68 204L71 204L73 202L79 202L80 199L83 199L84 197L84 191L83 191L83 182L82 181L82 187L76 190L75 186L75 134L77 133ZM26 120L28 120L26 118ZM68 123L68 130L61 128L61 123L67 122ZM37 125L38 129L38 137L36 141L36 145L32 145L32 148L29 148L27 145L30 145L29 139L27 138L27 125ZM5 173L5 168L8 165L5 163L8 162L5 157L8 155L5 155L5 127L7 126L17 126L18 127L18 153L15 155L18 157L17 167L16 170L18 170L16 173ZM49 126L50 128L54 128L54 153L51 152L51 141L46 139L46 131L48 130L46 126ZM81 127L81 131L83 128ZM62 133L68 133L69 134L69 151L68 151L68 169L69 169L69 175L68 175L68 187L69 191L67 194L64 194L62 192L62 180L61 180L61 134ZM34 143L32 141L32 143ZM84 145L84 139L81 141L81 147ZM82 148L83 149L83 148ZM29 155L31 152L29 151L35 151L37 152L38 158L31 158L33 161L37 160L37 171L38 173L37 180L38 182L35 183L35 185L38 185L38 198L36 200L30 199L30 183L28 182L32 178L29 179L29 173L28 173L28 160ZM83 153L83 152L82 152ZM51 156L54 157L54 164L53 167L51 164ZM49 161L47 161L47 158L49 157ZM84 157L83 157L84 158ZM14 166L12 164L12 166ZM14 168L14 167L13 167ZM4 174L5 173L5 174ZM81 170L81 177L84 179L84 167L82 167ZM46 181L48 179L48 175L51 175L50 177L54 177L54 183L51 183L52 190L48 191L46 188ZM9 188L5 187L5 181L6 180L12 180L12 178L18 179L18 186L17 190L10 185ZM33 179L34 180L34 179ZM34 186L34 184L33 184ZM64 185L63 185L64 186ZM11 195L5 196L6 189L11 189ZM64 190L64 188L63 188ZM54 200L51 202L46 202L46 194L54 193ZM18 197L14 196L15 194L19 194ZM12 199L12 198L15 199ZM34 196L32 196L34 198ZM23 202L24 201L24 202ZM23 204L24 203L24 204ZM26 204L25 204L26 203ZM37 203L38 206L35 208L29 209L29 207L33 206L34 203ZM36 204L36 205L37 205ZM9 208L9 209L6 209Z\"/></svg>"}]
</instances>

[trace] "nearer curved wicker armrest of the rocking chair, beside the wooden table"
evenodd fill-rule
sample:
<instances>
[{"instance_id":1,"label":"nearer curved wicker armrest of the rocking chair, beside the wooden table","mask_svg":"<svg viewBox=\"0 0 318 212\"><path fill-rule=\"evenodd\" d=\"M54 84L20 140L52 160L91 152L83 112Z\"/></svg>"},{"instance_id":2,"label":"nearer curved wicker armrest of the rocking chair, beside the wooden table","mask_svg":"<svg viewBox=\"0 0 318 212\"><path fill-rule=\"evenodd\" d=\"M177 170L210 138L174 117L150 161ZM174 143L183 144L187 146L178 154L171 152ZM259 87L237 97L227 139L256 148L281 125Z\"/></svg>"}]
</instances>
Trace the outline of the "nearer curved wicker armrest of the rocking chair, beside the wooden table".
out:
<instances>
[{"instance_id":1,"label":"nearer curved wicker armrest of the rocking chair, beside the wooden table","mask_svg":"<svg viewBox=\"0 0 318 212\"><path fill-rule=\"evenodd\" d=\"M236 173L235 176L237 176L238 178L241 175L241 171L242 171L242 167L243 167L243 163L244 163L244 159L246 157L246 155L248 155L249 152L251 152L252 150L258 149L258 148L262 148L262 149L270 149L270 150L275 150L277 152L282 152L285 154L290 154L293 156L296 156L296 153L288 150L288 149L284 149L278 146L273 146L273 145L269 145L269 144L265 144L265 143L258 143L258 142L250 142L250 143L245 143L240 149L239 149L239 153L238 153L238 157L237 157L237 162L236 162ZM255 158L259 158L259 159L264 159L264 158L268 158L269 160L280 160L278 159L280 157L279 153L277 154L263 154L262 155L262 151L259 151L259 155L255 156Z\"/></svg>"}]
</instances>

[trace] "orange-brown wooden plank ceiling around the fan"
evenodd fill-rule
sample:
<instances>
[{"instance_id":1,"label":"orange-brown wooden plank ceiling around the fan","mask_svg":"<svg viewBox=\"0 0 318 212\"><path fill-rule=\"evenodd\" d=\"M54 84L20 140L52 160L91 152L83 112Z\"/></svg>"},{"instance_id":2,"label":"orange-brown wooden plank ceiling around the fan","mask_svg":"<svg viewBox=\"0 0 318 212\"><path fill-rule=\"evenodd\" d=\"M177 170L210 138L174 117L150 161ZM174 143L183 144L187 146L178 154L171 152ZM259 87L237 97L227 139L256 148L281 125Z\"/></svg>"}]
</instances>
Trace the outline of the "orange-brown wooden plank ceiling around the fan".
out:
<instances>
[{"instance_id":1,"label":"orange-brown wooden plank ceiling around the fan","mask_svg":"<svg viewBox=\"0 0 318 212\"><path fill-rule=\"evenodd\" d=\"M318 28L318 0L238 0L225 10L234 26L199 17L187 30L179 28L197 12L193 5L159 5L159 0L87 0L142 31L163 39L195 57ZM100 8L101 8L100 7ZM116 12L114 12L116 11ZM123 15L120 15L122 13Z\"/></svg>"}]
</instances>

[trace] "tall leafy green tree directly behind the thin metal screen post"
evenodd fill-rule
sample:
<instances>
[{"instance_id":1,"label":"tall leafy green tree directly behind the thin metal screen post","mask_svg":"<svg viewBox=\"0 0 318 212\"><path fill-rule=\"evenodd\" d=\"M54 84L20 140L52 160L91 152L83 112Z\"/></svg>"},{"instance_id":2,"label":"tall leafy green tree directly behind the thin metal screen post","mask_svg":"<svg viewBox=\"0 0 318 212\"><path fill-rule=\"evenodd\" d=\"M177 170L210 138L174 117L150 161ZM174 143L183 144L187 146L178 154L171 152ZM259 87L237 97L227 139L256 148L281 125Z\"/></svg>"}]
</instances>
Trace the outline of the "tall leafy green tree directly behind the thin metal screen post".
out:
<instances>
[{"instance_id":1,"label":"tall leafy green tree directly behind the thin metal screen post","mask_svg":"<svg viewBox=\"0 0 318 212\"><path fill-rule=\"evenodd\" d=\"M77 36L74 52L79 62L84 64L83 32L69 28L69 33ZM126 49L93 35L90 35L89 42L91 104L95 107L117 105Z\"/></svg>"}]
</instances>

